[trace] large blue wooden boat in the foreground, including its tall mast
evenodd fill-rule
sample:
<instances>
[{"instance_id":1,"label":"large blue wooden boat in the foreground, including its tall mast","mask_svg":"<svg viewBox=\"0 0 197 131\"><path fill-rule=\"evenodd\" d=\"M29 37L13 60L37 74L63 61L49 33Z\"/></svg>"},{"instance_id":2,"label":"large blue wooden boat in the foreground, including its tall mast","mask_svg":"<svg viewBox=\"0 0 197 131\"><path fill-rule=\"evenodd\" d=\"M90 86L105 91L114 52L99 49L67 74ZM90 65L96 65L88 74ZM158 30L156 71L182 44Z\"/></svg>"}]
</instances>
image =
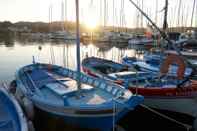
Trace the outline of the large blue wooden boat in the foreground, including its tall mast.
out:
<instances>
[{"instance_id":1,"label":"large blue wooden boat in the foreground, including its tall mast","mask_svg":"<svg viewBox=\"0 0 197 131\"><path fill-rule=\"evenodd\" d=\"M16 72L17 90L35 107L66 123L110 131L120 118L143 102L143 96L81 73L78 9L76 0L77 71L34 61Z\"/></svg>"}]
</instances>

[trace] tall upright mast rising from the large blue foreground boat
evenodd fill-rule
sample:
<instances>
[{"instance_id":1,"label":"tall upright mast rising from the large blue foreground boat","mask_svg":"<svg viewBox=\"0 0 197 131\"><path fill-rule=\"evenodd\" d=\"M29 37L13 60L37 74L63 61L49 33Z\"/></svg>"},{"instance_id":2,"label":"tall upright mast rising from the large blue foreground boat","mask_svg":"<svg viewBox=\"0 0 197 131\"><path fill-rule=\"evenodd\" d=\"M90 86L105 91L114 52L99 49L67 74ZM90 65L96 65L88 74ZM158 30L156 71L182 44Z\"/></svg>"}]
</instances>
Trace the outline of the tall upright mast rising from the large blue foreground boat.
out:
<instances>
[{"instance_id":1,"label":"tall upright mast rising from the large blue foreground boat","mask_svg":"<svg viewBox=\"0 0 197 131\"><path fill-rule=\"evenodd\" d=\"M77 88L81 90L81 65L80 65L80 35L79 35L79 0L75 0L76 3L76 42L77 42Z\"/></svg>"}]
</instances>

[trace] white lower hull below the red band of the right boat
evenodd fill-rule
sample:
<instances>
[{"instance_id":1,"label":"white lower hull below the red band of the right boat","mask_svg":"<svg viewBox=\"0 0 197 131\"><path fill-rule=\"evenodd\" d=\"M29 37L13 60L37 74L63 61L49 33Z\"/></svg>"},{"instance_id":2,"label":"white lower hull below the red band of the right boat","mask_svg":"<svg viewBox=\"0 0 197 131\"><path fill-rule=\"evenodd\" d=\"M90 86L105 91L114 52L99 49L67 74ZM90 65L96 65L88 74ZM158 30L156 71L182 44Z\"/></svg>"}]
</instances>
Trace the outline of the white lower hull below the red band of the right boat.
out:
<instances>
[{"instance_id":1,"label":"white lower hull below the red band of the right boat","mask_svg":"<svg viewBox=\"0 0 197 131\"><path fill-rule=\"evenodd\" d=\"M144 104L152 108L168 110L197 117L197 97L193 98L145 98Z\"/></svg>"}]
</instances>

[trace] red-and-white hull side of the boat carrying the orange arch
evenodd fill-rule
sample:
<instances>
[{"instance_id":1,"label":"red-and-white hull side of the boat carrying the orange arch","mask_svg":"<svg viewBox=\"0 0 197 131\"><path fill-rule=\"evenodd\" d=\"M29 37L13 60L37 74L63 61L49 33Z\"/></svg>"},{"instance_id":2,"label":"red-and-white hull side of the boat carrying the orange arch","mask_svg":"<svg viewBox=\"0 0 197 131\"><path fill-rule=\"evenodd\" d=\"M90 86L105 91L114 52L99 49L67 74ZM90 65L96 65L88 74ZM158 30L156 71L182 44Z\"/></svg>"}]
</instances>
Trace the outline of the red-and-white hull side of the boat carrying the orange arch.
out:
<instances>
[{"instance_id":1,"label":"red-and-white hull side of the boat carrying the orange arch","mask_svg":"<svg viewBox=\"0 0 197 131\"><path fill-rule=\"evenodd\" d=\"M92 76L99 76L93 71L85 72ZM114 81L115 82L115 81ZM133 93L139 93L145 97L144 104L152 108L168 110L197 117L197 85L185 89L177 88L136 88L128 87Z\"/></svg>"}]
</instances>

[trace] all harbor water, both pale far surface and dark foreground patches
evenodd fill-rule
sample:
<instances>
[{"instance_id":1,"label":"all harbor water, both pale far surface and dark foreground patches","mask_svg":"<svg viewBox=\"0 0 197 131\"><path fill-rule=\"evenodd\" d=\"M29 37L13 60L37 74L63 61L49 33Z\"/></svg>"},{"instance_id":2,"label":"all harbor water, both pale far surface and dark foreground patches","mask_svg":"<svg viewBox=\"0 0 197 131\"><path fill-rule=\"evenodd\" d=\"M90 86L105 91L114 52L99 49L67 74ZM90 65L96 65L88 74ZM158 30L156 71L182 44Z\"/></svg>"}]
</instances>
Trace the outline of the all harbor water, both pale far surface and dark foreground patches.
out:
<instances>
[{"instance_id":1,"label":"all harbor water, both pale far surface and dark foreground patches","mask_svg":"<svg viewBox=\"0 0 197 131\"><path fill-rule=\"evenodd\" d=\"M0 40L0 81L11 82L17 69L31 64L34 56L36 62L52 63L76 70L76 44L75 41L32 41L27 39ZM81 60L87 56L107 58L121 62L121 58L127 56L141 57L143 50L128 48L127 44L118 43L82 43ZM192 125L188 116L177 113L161 111L161 113L178 119L183 123ZM66 125L63 120L57 120L36 110L34 119L36 131L78 131L73 125ZM186 131L182 125L169 121L142 107L137 107L118 124L126 131L139 130L166 130Z\"/></svg>"}]
</instances>

